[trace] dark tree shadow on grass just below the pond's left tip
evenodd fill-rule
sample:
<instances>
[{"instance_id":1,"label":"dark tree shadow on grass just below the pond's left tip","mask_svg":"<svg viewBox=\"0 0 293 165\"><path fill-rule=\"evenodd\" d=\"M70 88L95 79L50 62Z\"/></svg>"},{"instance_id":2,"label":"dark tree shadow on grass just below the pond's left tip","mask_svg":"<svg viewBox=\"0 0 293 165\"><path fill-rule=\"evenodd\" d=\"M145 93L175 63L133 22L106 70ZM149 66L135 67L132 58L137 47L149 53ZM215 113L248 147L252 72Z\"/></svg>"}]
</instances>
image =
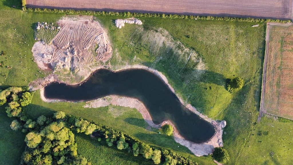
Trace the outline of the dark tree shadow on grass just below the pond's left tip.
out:
<instances>
[{"instance_id":1,"label":"dark tree shadow on grass just below the pond's left tip","mask_svg":"<svg viewBox=\"0 0 293 165\"><path fill-rule=\"evenodd\" d=\"M35 104L29 104L28 106L25 106L23 107L23 110L30 119L37 119L41 115L51 116L56 112L50 108Z\"/></svg>"}]
</instances>

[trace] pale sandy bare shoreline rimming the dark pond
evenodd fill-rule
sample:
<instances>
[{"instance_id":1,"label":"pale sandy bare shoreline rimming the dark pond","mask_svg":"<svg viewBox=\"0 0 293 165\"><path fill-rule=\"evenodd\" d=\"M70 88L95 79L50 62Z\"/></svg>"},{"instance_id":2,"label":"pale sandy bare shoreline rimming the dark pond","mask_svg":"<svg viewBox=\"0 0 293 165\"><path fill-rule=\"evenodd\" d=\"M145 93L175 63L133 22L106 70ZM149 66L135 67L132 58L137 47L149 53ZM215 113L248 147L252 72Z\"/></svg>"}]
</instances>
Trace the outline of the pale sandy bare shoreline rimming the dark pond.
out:
<instances>
[{"instance_id":1,"label":"pale sandy bare shoreline rimming the dark pond","mask_svg":"<svg viewBox=\"0 0 293 165\"><path fill-rule=\"evenodd\" d=\"M102 69L102 68L106 68L106 67L100 66L96 70ZM110 69L113 72L118 72L118 71L122 71L122 70L126 70L126 69L145 69L145 70L147 70L149 72L152 72L156 76L159 76L159 78L162 81L164 81L166 85L168 85L169 89L174 94L176 94L175 90L173 89L173 87L168 83L168 79L166 78L165 75L163 75L161 72L159 72L159 71L157 71L155 69L149 68L147 66L143 66L143 65L112 66L111 68L107 68L107 69ZM90 75L91 74L88 74L88 76L90 76ZM87 79L88 76L85 79ZM44 86L46 86L47 84L49 84L51 82L54 82L54 81L57 81L57 82L60 82L60 83L61 82L65 83L65 82L59 80L56 75L50 74L45 79L42 79L42 80L39 79L38 83L35 83L35 85L32 85L33 83L31 83L30 84L30 90L35 91L37 89L40 89L40 94L41 94L42 101L45 101L45 102L60 102L62 100L47 99L47 98L45 98L45 95L44 95ZM67 84L70 84L70 83L67 83ZM70 84L70 85L76 85L76 84ZM173 135L174 135L175 141L177 143L187 147L191 152L193 152L193 154L195 154L198 157L203 156L203 155L211 154L215 147L223 147L222 135L223 135L223 128L226 126L226 121L224 121L224 120L223 121L212 120L211 118L208 118L206 115L203 115L200 112L198 112L196 110L196 108L194 108L190 104L185 103L183 101L183 99L181 97L179 97L177 94L176 94L176 96L178 97L178 99L180 100L182 105L184 105L190 111L192 111L193 113L197 114L200 118L206 120L207 122L209 122L210 124L212 124L214 126L215 134L210 140L208 140L207 142L204 142L204 143L200 143L200 144L188 141L188 140L184 139L178 133L178 131L176 130L176 127L174 127L174 125L168 120L164 121L163 123L161 123L159 125L155 125L151 120L151 116L150 116L147 108L145 108L145 106L144 106L144 104L142 102L140 102L139 100L137 100L135 98L122 97L122 96L117 96L117 95L110 95L110 96L106 96L104 98L98 98L96 100L90 101L84 107L85 108L98 108L98 107L108 106L108 105L112 104L112 105L116 105L116 106L125 106L125 107L130 107L130 108L136 108L142 114L142 117L144 118L144 120L151 127L159 128L162 125L167 124L167 123L172 125L173 129L174 129ZM107 98L107 99L105 99L105 98Z\"/></svg>"}]
</instances>

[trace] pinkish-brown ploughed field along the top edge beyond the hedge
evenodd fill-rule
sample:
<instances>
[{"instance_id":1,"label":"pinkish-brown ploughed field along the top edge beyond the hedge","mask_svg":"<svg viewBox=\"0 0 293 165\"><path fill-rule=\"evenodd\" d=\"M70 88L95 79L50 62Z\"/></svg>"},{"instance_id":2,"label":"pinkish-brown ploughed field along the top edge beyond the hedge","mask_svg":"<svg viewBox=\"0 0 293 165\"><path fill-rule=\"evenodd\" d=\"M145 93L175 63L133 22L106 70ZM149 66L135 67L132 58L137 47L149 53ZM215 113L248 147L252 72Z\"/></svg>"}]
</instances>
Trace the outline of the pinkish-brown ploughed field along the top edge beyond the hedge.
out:
<instances>
[{"instance_id":1,"label":"pinkish-brown ploughed field along the top edge beyond the hedge","mask_svg":"<svg viewBox=\"0 0 293 165\"><path fill-rule=\"evenodd\" d=\"M177 13L203 16L292 18L292 0L26 0L28 7Z\"/></svg>"}]
</instances>

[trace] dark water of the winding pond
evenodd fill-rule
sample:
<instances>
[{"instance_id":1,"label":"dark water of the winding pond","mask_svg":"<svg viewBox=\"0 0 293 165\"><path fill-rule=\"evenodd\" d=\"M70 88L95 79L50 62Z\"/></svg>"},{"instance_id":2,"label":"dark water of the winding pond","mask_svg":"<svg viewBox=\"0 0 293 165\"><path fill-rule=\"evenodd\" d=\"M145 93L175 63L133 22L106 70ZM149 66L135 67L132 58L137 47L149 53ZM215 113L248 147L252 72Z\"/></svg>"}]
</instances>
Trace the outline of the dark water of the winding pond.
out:
<instances>
[{"instance_id":1,"label":"dark water of the winding pond","mask_svg":"<svg viewBox=\"0 0 293 165\"><path fill-rule=\"evenodd\" d=\"M108 95L137 98L155 124L171 120L180 135L192 142L206 142L215 133L213 125L183 106L158 76L144 69L120 72L99 69L82 85L51 83L45 87L45 97L50 99L87 101Z\"/></svg>"}]
</instances>

